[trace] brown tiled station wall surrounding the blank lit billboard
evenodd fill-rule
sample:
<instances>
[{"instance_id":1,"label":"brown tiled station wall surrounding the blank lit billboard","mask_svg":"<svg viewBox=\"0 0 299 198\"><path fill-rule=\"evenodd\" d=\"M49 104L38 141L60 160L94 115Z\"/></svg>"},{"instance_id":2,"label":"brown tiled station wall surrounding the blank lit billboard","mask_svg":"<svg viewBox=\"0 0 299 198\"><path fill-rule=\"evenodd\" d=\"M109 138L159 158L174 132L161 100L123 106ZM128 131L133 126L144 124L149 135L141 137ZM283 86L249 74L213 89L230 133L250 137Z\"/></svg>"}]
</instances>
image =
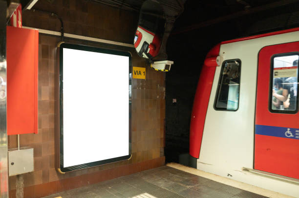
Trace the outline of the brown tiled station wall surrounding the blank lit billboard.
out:
<instances>
[{"instance_id":1,"label":"brown tiled station wall surrounding the blank lit billboard","mask_svg":"<svg viewBox=\"0 0 299 198\"><path fill-rule=\"evenodd\" d=\"M38 1L42 6L46 0ZM42 2L42 3L41 3ZM56 0L54 2L60 2ZM124 17L123 11L119 11L107 6L93 3L85 0L63 0L64 7L48 6L47 11L53 12L51 9L63 9L64 12L74 11L77 16L74 22L75 32L65 28L65 32L71 34L79 34L82 31L84 36L93 36L103 39L110 39L121 42L131 43L131 38L135 31L135 21L137 16L128 13ZM82 3L85 6L81 6ZM74 6L76 5L76 6ZM79 6L80 5L80 6ZM68 6L68 7L67 7ZM59 7L59 8L58 8ZM44 8L46 10L46 7ZM93 13L93 14L90 14ZM79 14L78 14L79 13ZM97 13L97 14L95 14ZM90 32L84 33L83 26L77 26L81 22L76 22L80 16L87 18L102 18L102 22L93 22L89 28ZM39 18L33 17L35 14L26 13L23 16L23 25L43 28L55 29L56 19L47 18L49 24L39 22ZM69 21L70 16L64 15L64 20ZM130 20L129 20L130 19ZM105 22L106 21L106 22ZM108 22L107 22L108 21ZM115 22L116 21L116 22ZM67 22L65 22L67 24ZM99 25L98 23L103 23ZM109 24L111 23L111 24ZM122 24L122 25L120 25ZM48 25L48 27L46 27ZM57 25L57 24L56 24ZM67 27L67 26L66 26ZM111 34L103 34L98 27L110 32ZM134 27L134 29L132 29ZM81 29L81 30L78 30ZM59 27L58 27L59 29ZM117 30L117 31L115 31ZM129 30L129 31L128 31ZM78 31L76 33L76 31ZM104 32L105 32L104 31ZM115 37L114 37L115 36ZM132 80L132 106L131 106L131 142L132 142L132 158L128 161L115 162L102 166L97 166L85 170L79 170L72 173L60 174L55 169L55 140L54 138L54 105L57 98L54 97L54 90L59 89L54 83L55 68L59 67L56 59L56 45L61 41L60 37L41 35L39 38L39 122L38 134L23 134L20 136L21 146L31 146L34 148L34 172L24 174L24 198L40 198L55 192L88 185L103 180L128 175L141 170L157 167L165 163L164 157L164 118L165 118L165 74L156 72L149 68L145 59L140 58L133 48L109 46L107 44L78 41L65 39L65 42L84 44L95 47L115 49L121 51L130 51L132 54L132 66L146 67L146 80ZM56 68L57 69L57 68ZM113 80L113 79L111 79ZM56 142L57 143L57 142ZM17 136L8 137L9 148L17 147ZM10 197L15 197L16 177L9 178Z\"/></svg>"}]
</instances>

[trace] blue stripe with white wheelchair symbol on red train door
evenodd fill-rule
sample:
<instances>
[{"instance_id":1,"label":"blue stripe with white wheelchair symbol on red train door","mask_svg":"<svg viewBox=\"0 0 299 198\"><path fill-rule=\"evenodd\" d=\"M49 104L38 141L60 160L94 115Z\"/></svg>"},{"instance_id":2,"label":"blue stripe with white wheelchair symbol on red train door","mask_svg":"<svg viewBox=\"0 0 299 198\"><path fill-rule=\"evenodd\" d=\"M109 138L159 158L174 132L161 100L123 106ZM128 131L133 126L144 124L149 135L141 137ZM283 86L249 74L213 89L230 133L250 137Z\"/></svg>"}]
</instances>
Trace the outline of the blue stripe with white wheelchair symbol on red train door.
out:
<instances>
[{"instance_id":1,"label":"blue stripe with white wheelchair symbol on red train door","mask_svg":"<svg viewBox=\"0 0 299 198\"><path fill-rule=\"evenodd\" d=\"M256 134L299 140L299 128L256 125Z\"/></svg>"}]
</instances>

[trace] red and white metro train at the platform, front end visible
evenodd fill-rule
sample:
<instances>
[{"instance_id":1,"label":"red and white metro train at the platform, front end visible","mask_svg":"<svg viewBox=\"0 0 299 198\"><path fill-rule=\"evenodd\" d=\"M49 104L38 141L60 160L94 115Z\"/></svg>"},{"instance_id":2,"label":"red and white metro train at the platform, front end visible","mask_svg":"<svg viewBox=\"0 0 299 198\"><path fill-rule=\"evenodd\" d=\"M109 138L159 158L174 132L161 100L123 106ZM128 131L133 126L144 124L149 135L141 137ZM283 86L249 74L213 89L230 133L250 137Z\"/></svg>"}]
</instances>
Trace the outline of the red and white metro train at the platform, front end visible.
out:
<instances>
[{"instance_id":1,"label":"red and white metro train at the platform, front end visible","mask_svg":"<svg viewBox=\"0 0 299 198\"><path fill-rule=\"evenodd\" d=\"M197 169L299 198L299 28L221 42L192 109Z\"/></svg>"}]
</instances>

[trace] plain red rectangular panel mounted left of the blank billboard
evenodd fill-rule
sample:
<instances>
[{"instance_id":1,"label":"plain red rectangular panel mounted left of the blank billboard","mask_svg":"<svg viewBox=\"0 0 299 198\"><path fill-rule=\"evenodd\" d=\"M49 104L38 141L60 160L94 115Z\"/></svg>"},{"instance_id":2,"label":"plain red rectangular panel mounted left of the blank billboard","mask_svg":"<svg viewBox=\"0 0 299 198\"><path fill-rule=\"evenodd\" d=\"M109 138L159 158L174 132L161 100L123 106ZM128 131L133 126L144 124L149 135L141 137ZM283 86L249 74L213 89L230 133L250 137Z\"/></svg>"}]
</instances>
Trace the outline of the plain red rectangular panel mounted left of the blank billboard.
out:
<instances>
[{"instance_id":1,"label":"plain red rectangular panel mounted left of the blank billboard","mask_svg":"<svg viewBox=\"0 0 299 198\"><path fill-rule=\"evenodd\" d=\"M7 134L38 132L39 32L7 26Z\"/></svg>"}]
</instances>

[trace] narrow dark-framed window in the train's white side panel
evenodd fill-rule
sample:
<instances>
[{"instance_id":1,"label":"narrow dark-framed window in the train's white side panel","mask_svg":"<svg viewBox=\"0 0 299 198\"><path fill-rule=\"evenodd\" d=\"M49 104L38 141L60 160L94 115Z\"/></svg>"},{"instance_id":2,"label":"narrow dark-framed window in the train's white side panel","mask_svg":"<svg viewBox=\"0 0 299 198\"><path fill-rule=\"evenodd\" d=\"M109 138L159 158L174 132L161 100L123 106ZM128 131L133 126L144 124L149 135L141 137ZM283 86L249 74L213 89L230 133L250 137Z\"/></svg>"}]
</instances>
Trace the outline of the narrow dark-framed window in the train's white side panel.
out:
<instances>
[{"instance_id":1,"label":"narrow dark-framed window in the train's white side panel","mask_svg":"<svg viewBox=\"0 0 299 198\"><path fill-rule=\"evenodd\" d=\"M227 60L222 64L214 108L236 111L239 107L241 61Z\"/></svg>"}]
</instances>

